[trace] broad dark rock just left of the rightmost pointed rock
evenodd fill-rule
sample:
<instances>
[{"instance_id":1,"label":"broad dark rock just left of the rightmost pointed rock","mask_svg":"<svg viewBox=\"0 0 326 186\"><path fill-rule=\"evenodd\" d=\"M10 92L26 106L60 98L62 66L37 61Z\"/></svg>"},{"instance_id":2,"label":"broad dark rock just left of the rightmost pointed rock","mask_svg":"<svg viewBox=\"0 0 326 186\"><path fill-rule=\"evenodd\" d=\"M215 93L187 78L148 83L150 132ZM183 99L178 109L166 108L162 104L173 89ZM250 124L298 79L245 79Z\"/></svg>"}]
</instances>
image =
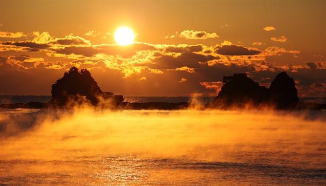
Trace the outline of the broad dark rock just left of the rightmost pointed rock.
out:
<instances>
[{"instance_id":1,"label":"broad dark rock just left of the rightmost pointed rock","mask_svg":"<svg viewBox=\"0 0 326 186\"><path fill-rule=\"evenodd\" d=\"M257 105L268 101L267 88L259 86L257 82L247 77L247 74L224 76L223 82L225 84L213 101L215 107L244 107L248 103Z\"/></svg>"}]
</instances>

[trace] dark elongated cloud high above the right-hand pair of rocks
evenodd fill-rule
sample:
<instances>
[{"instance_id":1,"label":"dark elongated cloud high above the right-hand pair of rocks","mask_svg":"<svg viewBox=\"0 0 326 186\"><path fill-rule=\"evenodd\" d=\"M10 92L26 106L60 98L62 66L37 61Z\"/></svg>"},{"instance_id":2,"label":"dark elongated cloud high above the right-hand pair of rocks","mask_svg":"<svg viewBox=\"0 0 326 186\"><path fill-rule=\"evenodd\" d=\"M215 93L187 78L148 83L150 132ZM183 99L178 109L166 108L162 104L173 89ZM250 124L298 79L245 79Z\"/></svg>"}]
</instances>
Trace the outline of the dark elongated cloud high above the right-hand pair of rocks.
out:
<instances>
[{"instance_id":1,"label":"dark elongated cloud high above the right-hand pair of rocks","mask_svg":"<svg viewBox=\"0 0 326 186\"><path fill-rule=\"evenodd\" d=\"M239 45L223 45L216 47L216 53L224 56L251 56L260 54L261 51L248 49Z\"/></svg>"}]
</instances>

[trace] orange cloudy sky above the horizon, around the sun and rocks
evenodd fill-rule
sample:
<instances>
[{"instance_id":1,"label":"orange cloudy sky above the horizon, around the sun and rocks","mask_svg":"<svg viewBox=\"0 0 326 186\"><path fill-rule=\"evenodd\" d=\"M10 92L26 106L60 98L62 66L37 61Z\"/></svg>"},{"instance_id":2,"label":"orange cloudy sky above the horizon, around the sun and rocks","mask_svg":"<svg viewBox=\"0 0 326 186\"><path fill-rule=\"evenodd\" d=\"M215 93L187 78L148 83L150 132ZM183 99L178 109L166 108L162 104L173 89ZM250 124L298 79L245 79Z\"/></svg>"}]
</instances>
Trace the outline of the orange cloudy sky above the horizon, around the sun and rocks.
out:
<instances>
[{"instance_id":1,"label":"orange cloudy sky above the horizon, around the sun and rocks","mask_svg":"<svg viewBox=\"0 0 326 186\"><path fill-rule=\"evenodd\" d=\"M285 71L300 97L326 96L325 18L325 0L0 0L0 94L51 95L76 66L122 95L216 96L223 76L268 88Z\"/></svg>"}]
</instances>

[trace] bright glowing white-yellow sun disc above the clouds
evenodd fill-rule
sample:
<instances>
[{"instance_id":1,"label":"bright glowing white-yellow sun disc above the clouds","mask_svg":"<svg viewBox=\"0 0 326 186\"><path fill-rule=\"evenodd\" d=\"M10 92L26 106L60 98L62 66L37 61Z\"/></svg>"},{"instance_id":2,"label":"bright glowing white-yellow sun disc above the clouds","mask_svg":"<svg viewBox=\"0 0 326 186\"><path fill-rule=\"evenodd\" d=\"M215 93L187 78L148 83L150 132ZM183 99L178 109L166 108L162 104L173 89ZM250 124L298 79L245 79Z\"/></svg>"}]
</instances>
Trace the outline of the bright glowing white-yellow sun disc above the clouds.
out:
<instances>
[{"instance_id":1,"label":"bright glowing white-yellow sun disc above the clouds","mask_svg":"<svg viewBox=\"0 0 326 186\"><path fill-rule=\"evenodd\" d=\"M135 34L129 27L123 26L115 31L114 39L119 45L129 45L134 41Z\"/></svg>"}]
</instances>

